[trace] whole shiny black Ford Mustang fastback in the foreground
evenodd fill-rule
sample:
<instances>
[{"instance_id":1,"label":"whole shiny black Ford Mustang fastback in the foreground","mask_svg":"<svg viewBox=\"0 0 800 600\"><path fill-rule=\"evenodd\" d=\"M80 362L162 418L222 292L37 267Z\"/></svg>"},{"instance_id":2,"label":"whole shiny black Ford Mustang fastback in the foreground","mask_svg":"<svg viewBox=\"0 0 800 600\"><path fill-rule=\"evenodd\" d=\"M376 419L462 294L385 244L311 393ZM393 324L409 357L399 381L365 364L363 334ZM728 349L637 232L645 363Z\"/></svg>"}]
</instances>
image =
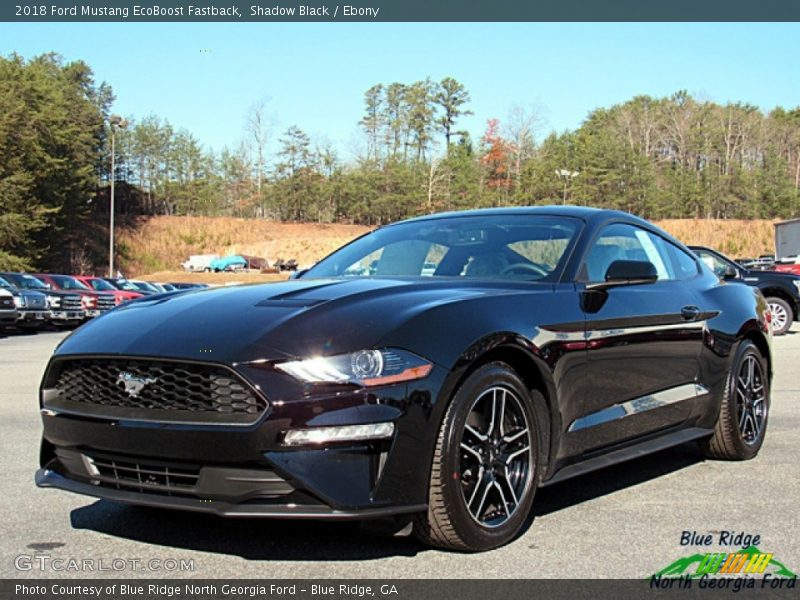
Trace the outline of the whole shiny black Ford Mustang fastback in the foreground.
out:
<instances>
[{"instance_id":1,"label":"whole shiny black Ford Mustang fastback in the foreground","mask_svg":"<svg viewBox=\"0 0 800 600\"><path fill-rule=\"evenodd\" d=\"M631 215L396 223L296 280L127 303L41 387L38 485L229 516L390 520L483 550L536 489L764 440L769 311Z\"/></svg>"}]
</instances>

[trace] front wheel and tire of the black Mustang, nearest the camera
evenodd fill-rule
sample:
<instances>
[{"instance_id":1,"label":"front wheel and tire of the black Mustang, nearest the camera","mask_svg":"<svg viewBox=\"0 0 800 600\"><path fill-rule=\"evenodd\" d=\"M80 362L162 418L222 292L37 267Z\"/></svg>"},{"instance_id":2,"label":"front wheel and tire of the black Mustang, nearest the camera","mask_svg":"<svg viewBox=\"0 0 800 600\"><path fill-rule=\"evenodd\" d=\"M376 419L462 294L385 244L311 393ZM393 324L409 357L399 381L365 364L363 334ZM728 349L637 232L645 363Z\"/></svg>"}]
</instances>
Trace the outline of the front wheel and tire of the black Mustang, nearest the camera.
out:
<instances>
[{"instance_id":1,"label":"front wheel and tire of the black Mustang, nearest the camera","mask_svg":"<svg viewBox=\"0 0 800 600\"><path fill-rule=\"evenodd\" d=\"M428 510L414 522L418 539L478 552L502 546L522 531L539 477L533 403L540 400L541 394L528 390L504 363L484 365L464 381L436 440Z\"/></svg>"}]
</instances>

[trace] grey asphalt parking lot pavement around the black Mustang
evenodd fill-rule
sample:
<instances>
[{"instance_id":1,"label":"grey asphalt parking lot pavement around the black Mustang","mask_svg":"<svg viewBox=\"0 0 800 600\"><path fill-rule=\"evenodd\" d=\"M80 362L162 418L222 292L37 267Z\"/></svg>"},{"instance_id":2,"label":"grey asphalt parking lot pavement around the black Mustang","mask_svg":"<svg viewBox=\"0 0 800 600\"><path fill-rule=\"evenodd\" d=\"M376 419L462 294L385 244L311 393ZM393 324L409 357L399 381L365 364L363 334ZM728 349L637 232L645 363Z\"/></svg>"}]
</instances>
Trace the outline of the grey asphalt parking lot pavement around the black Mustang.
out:
<instances>
[{"instance_id":1,"label":"grey asphalt parking lot pavement around the black Mustang","mask_svg":"<svg viewBox=\"0 0 800 600\"><path fill-rule=\"evenodd\" d=\"M685 530L760 535L762 551L800 571L797 324L774 342L772 411L758 458L704 461L684 446L545 488L528 531L480 555L373 537L348 523L226 520L37 489L36 390L63 335L0 337L2 577L638 578L704 551L680 545ZM78 566L69 559L86 570L53 570Z\"/></svg>"}]
</instances>

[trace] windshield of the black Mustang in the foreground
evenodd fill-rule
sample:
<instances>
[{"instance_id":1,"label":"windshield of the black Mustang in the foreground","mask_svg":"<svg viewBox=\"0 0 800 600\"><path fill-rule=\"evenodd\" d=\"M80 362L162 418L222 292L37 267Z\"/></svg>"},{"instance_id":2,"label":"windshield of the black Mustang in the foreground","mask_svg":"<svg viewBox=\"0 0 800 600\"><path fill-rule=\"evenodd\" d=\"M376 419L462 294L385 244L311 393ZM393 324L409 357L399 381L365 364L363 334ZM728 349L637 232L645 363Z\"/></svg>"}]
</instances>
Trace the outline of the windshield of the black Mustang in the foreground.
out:
<instances>
[{"instance_id":1,"label":"windshield of the black Mustang in the foreground","mask_svg":"<svg viewBox=\"0 0 800 600\"><path fill-rule=\"evenodd\" d=\"M559 271L579 221L480 215L399 223L334 252L305 277L463 277L546 280Z\"/></svg>"}]
</instances>

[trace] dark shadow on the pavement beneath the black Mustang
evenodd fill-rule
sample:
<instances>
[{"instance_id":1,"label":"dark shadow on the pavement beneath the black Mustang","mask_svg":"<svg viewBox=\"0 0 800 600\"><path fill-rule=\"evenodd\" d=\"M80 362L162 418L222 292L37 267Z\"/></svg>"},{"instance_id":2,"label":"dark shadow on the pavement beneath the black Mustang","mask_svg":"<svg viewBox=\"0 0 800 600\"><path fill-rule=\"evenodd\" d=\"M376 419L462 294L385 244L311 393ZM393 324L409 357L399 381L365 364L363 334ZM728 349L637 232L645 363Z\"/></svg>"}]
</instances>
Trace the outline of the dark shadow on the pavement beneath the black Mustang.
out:
<instances>
[{"instance_id":1,"label":"dark shadow on the pavement beneath the black Mustang","mask_svg":"<svg viewBox=\"0 0 800 600\"><path fill-rule=\"evenodd\" d=\"M693 445L609 467L543 488L535 516L612 494L702 461ZM373 535L353 522L225 519L134 507L107 500L75 509L72 526L163 547L230 554L248 560L344 561L415 556L428 549L413 536Z\"/></svg>"}]
</instances>

